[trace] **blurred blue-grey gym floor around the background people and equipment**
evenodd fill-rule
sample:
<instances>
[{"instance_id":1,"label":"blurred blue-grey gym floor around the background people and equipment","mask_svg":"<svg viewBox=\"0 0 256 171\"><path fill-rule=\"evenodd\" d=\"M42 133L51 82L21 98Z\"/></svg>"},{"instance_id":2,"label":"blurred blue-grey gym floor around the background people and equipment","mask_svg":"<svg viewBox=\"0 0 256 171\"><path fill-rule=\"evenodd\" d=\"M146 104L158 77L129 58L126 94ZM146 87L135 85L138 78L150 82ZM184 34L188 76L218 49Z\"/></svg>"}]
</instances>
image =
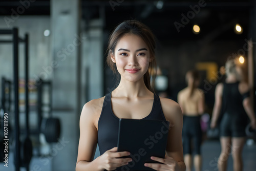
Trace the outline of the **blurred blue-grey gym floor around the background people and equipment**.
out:
<instances>
[{"instance_id":1,"label":"blurred blue-grey gym floor around the background people and equipment","mask_svg":"<svg viewBox=\"0 0 256 171\"><path fill-rule=\"evenodd\" d=\"M220 142L218 140L207 140L204 141L202 145L202 159L203 166L202 171L216 171L217 160L221 152ZM243 161L244 161L244 169L246 171L255 171L256 168L256 144L248 146L244 146L243 150ZM51 161L50 158L42 158L42 157L33 157L30 163L30 170L39 171L39 170L47 170L51 171ZM75 168L75 166L74 166ZM13 154L10 154L10 160L8 164L8 168L4 166L3 163L0 164L0 170L12 171L14 170L13 165ZM20 171L26 170L25 168L21 168ZM227 171L232 171L232 157L231 154L228 158L228 168ZM70 170L73 171L73 170Z\"/></svg>"}]
</instances>

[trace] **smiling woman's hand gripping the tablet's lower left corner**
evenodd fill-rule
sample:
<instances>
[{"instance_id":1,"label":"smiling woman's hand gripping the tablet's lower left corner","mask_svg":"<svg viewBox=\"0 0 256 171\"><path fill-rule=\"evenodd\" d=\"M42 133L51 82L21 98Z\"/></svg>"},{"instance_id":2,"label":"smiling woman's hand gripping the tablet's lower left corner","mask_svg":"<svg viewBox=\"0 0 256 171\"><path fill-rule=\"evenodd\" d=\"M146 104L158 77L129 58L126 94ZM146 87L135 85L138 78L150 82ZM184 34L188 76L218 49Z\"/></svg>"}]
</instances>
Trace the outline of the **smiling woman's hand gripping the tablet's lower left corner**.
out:
<instances>
[{"instance_id":1,"label":"smiling woman's hand gripping the tablet's lower left corner","mask_svg":"<svg viewBox=\"0 0 256 171\"><path fill-rule=\"evenodd\" d=\"M102 170L115 170L117 167L121 167L132 161L132 158L120 158L129 155L129 152L117 152L117 147L114 147L98 157L99 167Z\"/></svg>"}]
</instances>

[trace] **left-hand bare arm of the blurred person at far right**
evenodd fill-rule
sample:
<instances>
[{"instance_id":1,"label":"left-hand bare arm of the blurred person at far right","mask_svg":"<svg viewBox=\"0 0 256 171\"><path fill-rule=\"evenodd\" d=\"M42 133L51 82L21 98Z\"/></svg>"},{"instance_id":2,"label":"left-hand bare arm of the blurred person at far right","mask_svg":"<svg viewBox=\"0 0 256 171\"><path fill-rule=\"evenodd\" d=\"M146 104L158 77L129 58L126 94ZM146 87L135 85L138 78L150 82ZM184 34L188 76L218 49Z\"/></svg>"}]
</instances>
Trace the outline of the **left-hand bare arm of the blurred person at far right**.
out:
<instances>
[{"instance_id":1,"label":"left-hand bare arm of the blurred person at far right","mask_svg":"<svg viewBox=\"0 0 256 171\"><path fill-rule=\"evenodd\" d=\"M217 120L221 113L223 84L219 83L215 90L214 110L212 111L211 128L216 127Z\"/></svg>"}]
</instances>

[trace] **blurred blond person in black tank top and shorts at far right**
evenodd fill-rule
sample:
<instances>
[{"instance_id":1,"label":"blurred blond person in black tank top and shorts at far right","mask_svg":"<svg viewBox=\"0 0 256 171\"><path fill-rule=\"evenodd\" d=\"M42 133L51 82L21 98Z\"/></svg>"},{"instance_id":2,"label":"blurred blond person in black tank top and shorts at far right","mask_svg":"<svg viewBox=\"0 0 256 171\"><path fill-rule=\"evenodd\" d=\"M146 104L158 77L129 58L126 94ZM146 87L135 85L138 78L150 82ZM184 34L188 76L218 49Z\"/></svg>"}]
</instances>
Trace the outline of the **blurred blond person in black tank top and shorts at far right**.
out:
<instances>
[{"instance_id":1,"label":"blurred blond person in black tank top and shorts at far right","mask_svg":"<svg viewBox=\"0 0 256 171\"><path fill-rule=\"evenodd\" d=\"M233 170L243 170L242 151L245 142L246 114L251 120L252 128L256 120L250 98L248 85L240 82L241 72L235 61L226 62L226 80L219 83L215 90L215 105L212 111L211 128L216 127L218 118L223 111L220 121L221 154L218 160L220 171L227 169L227 159L232 154Z\"/></svg>"}]
</instances>

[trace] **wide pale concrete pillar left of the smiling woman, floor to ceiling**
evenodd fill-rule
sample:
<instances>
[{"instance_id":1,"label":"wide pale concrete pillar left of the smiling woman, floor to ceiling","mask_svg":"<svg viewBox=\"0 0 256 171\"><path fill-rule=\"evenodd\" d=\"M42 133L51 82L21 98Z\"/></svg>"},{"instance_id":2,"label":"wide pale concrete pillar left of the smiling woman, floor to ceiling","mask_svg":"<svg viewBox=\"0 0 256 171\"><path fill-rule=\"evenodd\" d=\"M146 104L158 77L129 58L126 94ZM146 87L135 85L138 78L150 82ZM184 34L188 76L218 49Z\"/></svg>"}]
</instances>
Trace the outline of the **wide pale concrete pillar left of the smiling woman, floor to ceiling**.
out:
<instances>
[{"instance_id":1,"label":"wide pale concrete pillar left of the smiling woman, floor to ceiling","mask_svg":"<svg viewBox=\"0 0 256 171\"><path fill-rule=\"evenodd\" d=\"M80 116L80 0L51 1L53 116L61 119L61 142L50 150L52 170L75 170Z\"/></svg>"}]
</instances>

